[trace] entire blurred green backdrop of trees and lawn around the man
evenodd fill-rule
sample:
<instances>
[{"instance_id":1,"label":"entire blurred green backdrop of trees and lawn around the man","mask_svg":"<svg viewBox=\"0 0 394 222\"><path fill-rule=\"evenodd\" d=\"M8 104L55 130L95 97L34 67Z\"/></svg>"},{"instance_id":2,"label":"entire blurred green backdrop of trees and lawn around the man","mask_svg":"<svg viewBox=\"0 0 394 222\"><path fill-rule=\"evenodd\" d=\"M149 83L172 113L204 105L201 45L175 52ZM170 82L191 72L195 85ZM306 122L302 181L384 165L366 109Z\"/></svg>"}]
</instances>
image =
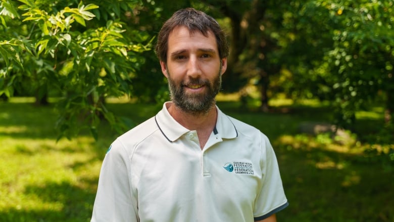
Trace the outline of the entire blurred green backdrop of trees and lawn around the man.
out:
<instances>
[{"instance_id":1,"label":"entire blurred green backdrop of trees and lawn around the man","mask_svg":"<svg viewBox=\"0 0 394 222\"><path fill-rule=\"evenodd\" d=\"M89 221L106 150L169 100L153 50L194 7L230 42L218 106L274 146L278 221L394 221L394 2L0 2L0 221Z\"/></svg>"}]
</instances>

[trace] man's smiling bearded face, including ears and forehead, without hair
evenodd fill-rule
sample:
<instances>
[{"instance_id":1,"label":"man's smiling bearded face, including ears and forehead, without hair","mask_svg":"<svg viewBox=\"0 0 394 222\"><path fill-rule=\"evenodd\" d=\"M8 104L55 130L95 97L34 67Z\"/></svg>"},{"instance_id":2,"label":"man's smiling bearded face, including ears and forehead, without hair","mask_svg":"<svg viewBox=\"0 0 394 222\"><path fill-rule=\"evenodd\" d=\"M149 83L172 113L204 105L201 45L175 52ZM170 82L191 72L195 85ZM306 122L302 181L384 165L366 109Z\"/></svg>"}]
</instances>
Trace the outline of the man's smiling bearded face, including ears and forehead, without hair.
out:
<instances>
[{"instance_id":1,"label":"man's smiling bearded face, including ears and forehead, without hair","mask_svg":"<svg viewBox=\"0 0 394 222\"><path fill-rule=\"evenodd\" d=\"M212 32L206 37L175 28L168 37L167 63L160 64L177 107L189 113L205 113L213 107L227 60L220 59Z\"/></svg>"}]
</instances>

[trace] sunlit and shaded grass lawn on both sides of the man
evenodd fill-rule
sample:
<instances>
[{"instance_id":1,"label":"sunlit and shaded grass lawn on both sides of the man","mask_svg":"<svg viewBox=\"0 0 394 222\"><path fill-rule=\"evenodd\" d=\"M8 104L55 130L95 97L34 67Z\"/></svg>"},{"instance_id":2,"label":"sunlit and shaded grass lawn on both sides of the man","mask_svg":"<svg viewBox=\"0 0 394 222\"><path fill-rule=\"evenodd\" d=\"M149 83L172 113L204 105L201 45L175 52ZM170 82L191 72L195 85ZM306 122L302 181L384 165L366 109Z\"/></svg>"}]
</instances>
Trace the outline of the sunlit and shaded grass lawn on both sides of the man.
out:
<instances>
[{"instance_id":1,"label":"sunlit and shaded grass lawn on both sides of the man","mask_svg":"<svg viewBox=\"0 0 394 222\"><path fill-rule=\"evenodd\" d=\"M380 136L381 108L358 113L358 138L338 143L327 134L299 131L303 122L329 121L328 105L275 104L278 112L265 114L236 102L218 105L271 139L290 203L278 221L394 222L394 164L379 155L394 142L366 143ZM136 123L161 108L108 106ZM0 221L89 221L102 160L118 135L103 124L98 141L86 134L56 142L56 118L52 106L19 98L0 102Z\"/></svg>"}]
</instances>

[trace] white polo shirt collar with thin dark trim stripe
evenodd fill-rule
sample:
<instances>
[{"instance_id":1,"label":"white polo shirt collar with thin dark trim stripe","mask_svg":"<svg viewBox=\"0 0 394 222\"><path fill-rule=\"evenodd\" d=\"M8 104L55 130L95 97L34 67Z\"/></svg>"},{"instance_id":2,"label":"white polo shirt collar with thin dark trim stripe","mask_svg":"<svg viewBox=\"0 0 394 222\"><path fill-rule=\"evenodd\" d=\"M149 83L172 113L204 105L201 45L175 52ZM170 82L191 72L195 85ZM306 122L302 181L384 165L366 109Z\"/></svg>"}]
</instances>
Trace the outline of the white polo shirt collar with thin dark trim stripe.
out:
<instances>
[{"instance_id":1,"label":"white polo shirt collar with thin dark trim stripe","mask_svg":"<svg viewBox=\"0 0 394 222\"><path fill-rule=\"evenodd\" d=\"M160 131L170 142L178 140L182 135L186 134L190 130L179 124L168 112L167 103L163 104L162 110L158 112L155 116L156 124L158 125ZM218 137L232 139L238 136L238 132L230 120L230 118L225 115L217 106L216 110L218 112L218 117L216 121L216 126L214 133Z\"/></svg>"}]
</instances>

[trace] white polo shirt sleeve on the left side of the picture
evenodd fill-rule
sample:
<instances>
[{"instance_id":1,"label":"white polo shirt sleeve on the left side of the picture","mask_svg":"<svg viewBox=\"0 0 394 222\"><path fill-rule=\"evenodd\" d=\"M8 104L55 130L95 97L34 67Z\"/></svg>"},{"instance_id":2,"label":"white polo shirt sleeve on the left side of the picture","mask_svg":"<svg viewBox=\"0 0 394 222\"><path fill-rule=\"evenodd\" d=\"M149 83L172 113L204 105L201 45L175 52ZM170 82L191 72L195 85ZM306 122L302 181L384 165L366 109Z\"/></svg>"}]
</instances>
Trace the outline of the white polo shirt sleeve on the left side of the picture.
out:
<instances>
[{"instance_id":1,"label":"white polo shirt sleeve on the left side of the picture","mask_svg":"<svg viewBox=\"0 0 394 222\"><path fill-rule=\"evenodd\" d=\"M132 195L130 160L119 140L108 150L98 179L91 222L136 222L136 200Z\"/></svg>"}]
</instances>

